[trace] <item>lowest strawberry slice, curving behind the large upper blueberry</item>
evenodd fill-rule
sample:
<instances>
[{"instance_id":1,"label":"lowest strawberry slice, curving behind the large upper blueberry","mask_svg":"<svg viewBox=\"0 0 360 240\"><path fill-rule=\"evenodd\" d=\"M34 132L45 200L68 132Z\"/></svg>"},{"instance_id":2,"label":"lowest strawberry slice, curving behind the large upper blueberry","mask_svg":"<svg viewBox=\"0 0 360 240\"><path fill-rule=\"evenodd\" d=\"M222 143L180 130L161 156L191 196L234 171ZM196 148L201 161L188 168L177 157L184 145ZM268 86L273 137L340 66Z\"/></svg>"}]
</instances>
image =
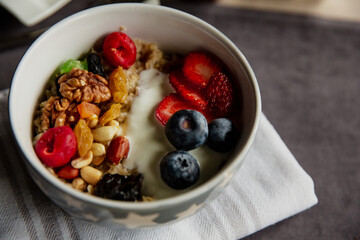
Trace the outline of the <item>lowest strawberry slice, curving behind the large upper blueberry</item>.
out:
<instances>
[{"instance_id":1,"label":"lowest strawberry slice, curving behind the large upper blueberry","mask_svg":"<svg viewBox=\"0 0 360 240\"><path fill-rule=\"evenodd\" d=\"M169 118L174 113L183 109L192 109L201 112L208 120L208 122L215 118L214 114L212 114L210 110L197 108L190 102L184 100L177 93L170 93L170 95L164 97L164 99L156 108L155 116L160 121L160 123L165 126Z\"/></svg>"}]
</instances>

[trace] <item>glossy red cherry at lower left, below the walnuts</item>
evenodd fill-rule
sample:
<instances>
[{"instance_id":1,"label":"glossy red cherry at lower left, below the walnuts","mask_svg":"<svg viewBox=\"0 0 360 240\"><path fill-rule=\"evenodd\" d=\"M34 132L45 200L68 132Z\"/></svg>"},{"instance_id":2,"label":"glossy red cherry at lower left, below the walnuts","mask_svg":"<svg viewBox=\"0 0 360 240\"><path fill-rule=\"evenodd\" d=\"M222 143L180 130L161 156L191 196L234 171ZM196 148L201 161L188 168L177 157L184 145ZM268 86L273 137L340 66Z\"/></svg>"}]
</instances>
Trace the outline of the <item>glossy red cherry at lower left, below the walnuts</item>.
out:
<instances>
[{"instance_id":1,"label":"glossy red cherry at lower left, below the walnuts","mask_svg":"<svg viewBox=\"0 0 360 240\"><path fill-rule=\"evenodd\" d=\"M77 152L75 134L68 126L50 128L37 142L35 152L49 167L64 166Z\"/></svg>"}]
</instances>

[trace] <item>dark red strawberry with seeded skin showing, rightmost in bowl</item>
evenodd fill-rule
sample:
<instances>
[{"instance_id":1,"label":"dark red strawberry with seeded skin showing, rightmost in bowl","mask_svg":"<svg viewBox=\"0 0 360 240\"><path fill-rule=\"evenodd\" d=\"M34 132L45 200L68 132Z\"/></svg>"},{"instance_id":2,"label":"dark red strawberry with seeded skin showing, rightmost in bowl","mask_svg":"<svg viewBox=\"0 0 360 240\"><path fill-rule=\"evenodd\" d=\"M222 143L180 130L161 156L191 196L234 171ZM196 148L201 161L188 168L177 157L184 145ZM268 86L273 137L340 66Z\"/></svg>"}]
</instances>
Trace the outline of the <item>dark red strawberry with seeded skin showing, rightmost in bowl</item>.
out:
<instances>
[{"instance_id":1,"label":"dark red strawberry with seeded skin showing, rightmost in bowl","mask_svg":"<svg viewBox=\"0 0 360 240\"><path fill-rule=\"evenodd\" d=\"M224 73L215 73L207 86L208 108L217 117L227 116L233 105L234 91L232 83Z\"/></svg>"}]
</instances>

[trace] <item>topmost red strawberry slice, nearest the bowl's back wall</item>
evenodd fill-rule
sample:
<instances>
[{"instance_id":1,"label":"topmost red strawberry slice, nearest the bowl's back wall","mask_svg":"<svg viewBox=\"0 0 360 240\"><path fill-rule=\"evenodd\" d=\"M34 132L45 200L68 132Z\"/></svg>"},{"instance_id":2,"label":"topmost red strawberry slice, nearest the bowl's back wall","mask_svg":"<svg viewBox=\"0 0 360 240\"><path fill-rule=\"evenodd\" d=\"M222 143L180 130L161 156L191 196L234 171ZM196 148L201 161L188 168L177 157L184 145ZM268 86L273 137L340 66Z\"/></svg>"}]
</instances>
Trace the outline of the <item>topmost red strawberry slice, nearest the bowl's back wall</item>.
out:
<instances>
[{"instance_id":1,"label":"topmost red strawberry slice, nearest the bowl's back wall","mask_svg":"<svg viewBox=\"0 0 360 240\"><path fill-rule=\"evenodd\" d=\"M184 75L196 87L206 87L211 76L219 71L221 67L218 62L205 52L190 52L185 56Z\"/></svg>"}]
</instances>

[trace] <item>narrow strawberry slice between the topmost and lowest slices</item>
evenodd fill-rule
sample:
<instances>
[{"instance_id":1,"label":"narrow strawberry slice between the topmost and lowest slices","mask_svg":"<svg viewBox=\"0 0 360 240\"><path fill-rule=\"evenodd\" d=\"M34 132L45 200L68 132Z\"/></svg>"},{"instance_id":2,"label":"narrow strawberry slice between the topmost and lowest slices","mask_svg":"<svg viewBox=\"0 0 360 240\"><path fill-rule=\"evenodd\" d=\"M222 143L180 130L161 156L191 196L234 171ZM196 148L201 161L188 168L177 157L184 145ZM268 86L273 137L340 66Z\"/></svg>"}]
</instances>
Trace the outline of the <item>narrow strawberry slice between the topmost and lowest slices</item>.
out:
<instances>
[{"instance_id":1,"label":"narrow strawberry slice between the topmost and lowest slices","mask_svg":"<svg viewBox=\"0 0 360 240\"><path fill-rule=\"evenodd\" d=\"M195 90L188 86L189 84L186 82L185 76L181 71L171 72L169 80L170 84L181 97L200 109L206 108L207 100L203 96L203 93L200 90Z\"/></svg>"}]
</instances>

